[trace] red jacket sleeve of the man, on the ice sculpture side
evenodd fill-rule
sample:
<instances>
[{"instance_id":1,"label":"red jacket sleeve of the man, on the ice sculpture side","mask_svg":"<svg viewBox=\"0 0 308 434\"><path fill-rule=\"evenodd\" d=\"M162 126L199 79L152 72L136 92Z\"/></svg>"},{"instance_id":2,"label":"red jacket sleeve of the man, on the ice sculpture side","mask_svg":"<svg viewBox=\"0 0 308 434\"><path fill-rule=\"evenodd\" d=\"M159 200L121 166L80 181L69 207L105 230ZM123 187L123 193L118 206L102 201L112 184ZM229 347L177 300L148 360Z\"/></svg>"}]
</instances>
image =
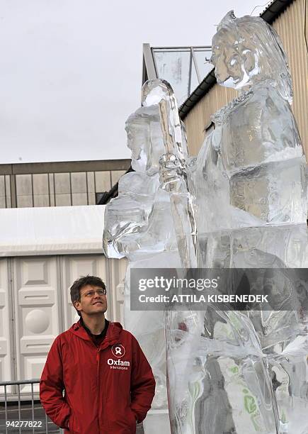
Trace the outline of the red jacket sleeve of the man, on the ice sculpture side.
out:
<instances>
[{"instance_id":1,"label":"red jacket sleeve of the man, on the ice sculpture side","mask_svg":"<svg viewBox=\"0 0 308 434\"><path fill-rule=\"evenodd\" d=\"M155 379L147 358L132 336L132 377L130 384L131 408L141 422L151 408L155 394Z\"/></svg>"}]
</instances>

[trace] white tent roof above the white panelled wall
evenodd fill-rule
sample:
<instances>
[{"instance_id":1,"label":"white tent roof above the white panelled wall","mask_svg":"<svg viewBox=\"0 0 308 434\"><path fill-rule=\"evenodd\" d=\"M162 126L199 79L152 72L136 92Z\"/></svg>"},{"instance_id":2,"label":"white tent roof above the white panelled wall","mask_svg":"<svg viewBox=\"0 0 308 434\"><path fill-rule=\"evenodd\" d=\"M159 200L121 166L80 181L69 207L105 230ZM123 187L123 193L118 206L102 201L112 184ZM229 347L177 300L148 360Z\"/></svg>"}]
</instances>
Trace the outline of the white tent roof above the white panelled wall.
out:
<instances>
[{"instance_id":1,"label":"white tent roof above the white panelled wall","mask_svg":"<svg viewBox=\"0 0 308 434\"><path fill-rule=\"evenodd\" d=\"M102 253L105 206L7 208L0 256Z\"/></svg>"}]
</instances>

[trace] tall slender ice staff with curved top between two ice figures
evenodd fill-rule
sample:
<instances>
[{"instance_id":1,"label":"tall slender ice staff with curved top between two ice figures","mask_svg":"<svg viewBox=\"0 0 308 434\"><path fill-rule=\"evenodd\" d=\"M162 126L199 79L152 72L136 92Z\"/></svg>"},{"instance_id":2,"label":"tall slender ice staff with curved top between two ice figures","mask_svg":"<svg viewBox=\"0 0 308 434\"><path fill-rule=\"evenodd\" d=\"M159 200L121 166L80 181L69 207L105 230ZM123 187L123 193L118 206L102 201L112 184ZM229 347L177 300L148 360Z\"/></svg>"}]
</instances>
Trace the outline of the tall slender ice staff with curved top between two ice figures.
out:
<instances>
[{"instance_id":1,"label":"tall slender ice staff with curved top between two ice figures","mask_svg":"<svg viewBox=\"0 0 308 434\"><path fill-rule=\"evenodd\" d=\"M159 160L162 188L169 192L178 252L183 268L197 267L197 226L194 187L187 167L188 150L178 104L171 85L153 79L142 87L142 106L159 106L165 154Z\"/></svg>"}]
</instances>

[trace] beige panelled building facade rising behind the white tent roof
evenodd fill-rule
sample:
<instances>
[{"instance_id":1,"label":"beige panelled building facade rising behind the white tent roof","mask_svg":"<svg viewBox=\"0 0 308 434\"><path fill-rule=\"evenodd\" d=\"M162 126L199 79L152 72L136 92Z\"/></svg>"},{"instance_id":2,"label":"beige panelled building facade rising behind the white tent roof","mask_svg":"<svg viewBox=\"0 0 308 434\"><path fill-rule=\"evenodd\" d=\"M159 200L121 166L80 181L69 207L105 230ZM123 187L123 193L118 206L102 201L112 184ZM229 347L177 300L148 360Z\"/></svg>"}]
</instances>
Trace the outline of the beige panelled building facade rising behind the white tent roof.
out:
<instances>
[{"instance_id":1,"label":"beige panelled building facade rising behind the white tent roof","mask_svg":"<svg viewBox=\"0 0 308 434\"><path fill-rule=\"evenodd\" d=\"M130 160L0 165L0 208L96 205Z\"/></svg>"}]
</instances>

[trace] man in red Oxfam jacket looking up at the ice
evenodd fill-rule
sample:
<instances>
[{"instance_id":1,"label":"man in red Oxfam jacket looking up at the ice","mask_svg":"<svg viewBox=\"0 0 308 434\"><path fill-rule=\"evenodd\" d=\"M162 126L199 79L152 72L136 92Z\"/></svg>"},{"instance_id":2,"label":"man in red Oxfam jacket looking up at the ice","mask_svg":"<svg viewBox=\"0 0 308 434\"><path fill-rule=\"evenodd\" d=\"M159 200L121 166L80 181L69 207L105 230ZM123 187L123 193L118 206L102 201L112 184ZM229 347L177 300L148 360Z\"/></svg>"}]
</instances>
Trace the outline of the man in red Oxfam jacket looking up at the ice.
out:
<instances>
[{"instance_id":1,"label":"man in red Oxfam jacket looking up at the ice","mask_svg":"<svg viewBox=\"0 0 308 434\"><path fill-rule=\"evenodd\" d=\"M154 397L152 369L134 336L105 319L99 277L81 277L70 291L81 318L50 348L40 379L42 406L65 433L133 434Z\"/></svg>"}]
</instances>

